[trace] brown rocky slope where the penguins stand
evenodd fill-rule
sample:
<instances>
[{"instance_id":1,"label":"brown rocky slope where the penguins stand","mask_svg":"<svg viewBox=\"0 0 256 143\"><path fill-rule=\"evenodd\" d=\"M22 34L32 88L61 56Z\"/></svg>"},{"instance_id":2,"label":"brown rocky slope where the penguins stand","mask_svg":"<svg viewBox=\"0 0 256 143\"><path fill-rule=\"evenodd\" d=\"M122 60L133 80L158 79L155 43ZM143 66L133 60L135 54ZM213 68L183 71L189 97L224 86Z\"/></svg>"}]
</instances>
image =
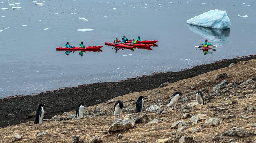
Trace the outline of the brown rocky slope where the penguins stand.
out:
<instances>
[{"instance_id":1,"label":"brown rocky slope where the penguins stand","mask_svg":"<svg viewBox=\"0 0 256 143\"><path fill-rule=\"evenodd\" d=\"M218 76L221 73L227 76ZM255 81L256 59L239 62L154 90L119 96L109 104L86 107L80 120L70 111L40 125L29 121L8 126L0 129L0 141L256 142ZM205 105L194 102L198 90ZM168 100L176 91L183 94L175 109L168 108ZM144 112L135 114L139 96L145 97ZM117 100L124 105L120 116L112 114Z\"/></svg>"}]
</instances>

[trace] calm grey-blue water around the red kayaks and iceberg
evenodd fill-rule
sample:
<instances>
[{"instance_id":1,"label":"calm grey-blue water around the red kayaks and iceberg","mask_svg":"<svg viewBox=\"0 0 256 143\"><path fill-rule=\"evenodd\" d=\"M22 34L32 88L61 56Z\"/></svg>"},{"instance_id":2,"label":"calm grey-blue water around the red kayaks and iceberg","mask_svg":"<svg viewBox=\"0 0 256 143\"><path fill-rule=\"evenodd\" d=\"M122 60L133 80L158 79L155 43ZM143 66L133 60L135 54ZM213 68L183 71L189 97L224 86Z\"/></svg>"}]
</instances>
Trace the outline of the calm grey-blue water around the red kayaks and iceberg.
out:
<instances>
[{"instance_id":1,"label":"calm grey-blue water around the red kayaks and iceberg","mask_svg":"<svg viewBox=\"0 0 256 143\"><path fill-rule=\"evenodd\" d=\"M256 51L251 46L256 41L256 1L38 1L44 6L28 0L20 0L19 5L0 2L0 8L10 9L0 9L0 97L179 71ZM213 9L226 10L230 30L186 24L188 19ZM49 30L42 30L45 28ZM77 31L84 28L95 30ZM158 47L152 47L152 51L120 49L115 53L104 45L115 38L121 40L123 35L159 40ZM195 48L205 39L218 47L208 53ZM65 51L55 51L66 42L78 46L82 41L86 46L103 45L103 52L84 52L81 57L79 51L68 56Z\"/></svg>"}]
</instances>

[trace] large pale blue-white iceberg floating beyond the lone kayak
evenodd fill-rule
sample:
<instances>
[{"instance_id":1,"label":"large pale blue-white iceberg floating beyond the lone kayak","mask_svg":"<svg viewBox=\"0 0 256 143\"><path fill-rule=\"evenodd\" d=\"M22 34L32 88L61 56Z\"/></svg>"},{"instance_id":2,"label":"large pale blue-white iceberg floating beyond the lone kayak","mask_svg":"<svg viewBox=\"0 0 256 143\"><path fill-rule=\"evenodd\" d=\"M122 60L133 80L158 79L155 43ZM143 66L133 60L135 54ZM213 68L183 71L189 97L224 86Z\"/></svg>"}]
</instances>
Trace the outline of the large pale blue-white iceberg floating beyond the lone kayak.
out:
<instances>
[{"instance_id":1,"label":"large pale blue-white iceberg floating beyond the lone kayak","mask_svg":"<svg viewBox=\"0 0 256 143\"><path fill-rule=\"evenodd\" d=\"M210 10L199 16L187 20L188 24L217 28L227 29L230 28L230 20L225 10Z\"/></svg>"}]
</instances>

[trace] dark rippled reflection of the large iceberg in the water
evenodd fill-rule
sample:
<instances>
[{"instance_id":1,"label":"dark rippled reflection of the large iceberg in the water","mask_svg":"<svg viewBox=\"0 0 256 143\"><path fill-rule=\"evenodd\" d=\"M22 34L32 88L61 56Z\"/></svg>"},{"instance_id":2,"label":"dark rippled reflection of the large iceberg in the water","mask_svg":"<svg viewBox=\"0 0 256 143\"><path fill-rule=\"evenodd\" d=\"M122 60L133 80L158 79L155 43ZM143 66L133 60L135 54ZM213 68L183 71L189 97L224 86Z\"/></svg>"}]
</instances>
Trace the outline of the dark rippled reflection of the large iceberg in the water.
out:
<instances>
[{"instance_id":1,"label":"dark rippled reflection of the large iceberg in the water","mask_svg":"<svg viewBox=\"0 0 256 143\"><path fill-rule=\"evenodd\" d=\"M187 24L187 26L191 31L202 36L204 39L209 39L211 43L225 42L230 35L230 29L208 28L191 24Z\"/></svg>"}]
</instances>

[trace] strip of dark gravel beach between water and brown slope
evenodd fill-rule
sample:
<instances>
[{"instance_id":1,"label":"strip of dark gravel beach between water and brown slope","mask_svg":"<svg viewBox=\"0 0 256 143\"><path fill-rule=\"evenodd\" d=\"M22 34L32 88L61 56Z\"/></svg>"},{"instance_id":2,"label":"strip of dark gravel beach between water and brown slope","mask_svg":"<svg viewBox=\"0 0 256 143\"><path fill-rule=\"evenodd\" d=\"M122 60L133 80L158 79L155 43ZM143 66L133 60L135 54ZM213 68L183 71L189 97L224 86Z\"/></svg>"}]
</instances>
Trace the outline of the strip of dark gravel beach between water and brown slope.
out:
<instances>
[{"instance_id":1,"label":"strip of dark gravel beach between water and brown slope","mask_svg":"<svg viewBox=\"0 0 256 143\"><path fill-rule=\"evenodd\" d=\"M188 70L178 72L157 73L119 82L105 82L83 85L79 87L54 90L38 95L18 96L0 99L0 127L24 123L33 118L28 118L30 112L36 111L39 103L44 103L44 110L48 114L43 119L48 119L56 114L75 110L79 103L85 107L108 101L117 96L132 92L141 92L158 88L166 81L174 83L181 79L191 78L202 73L217 70L229 66L230 63L238 63L255 59L256 56L221 60L212 64L200 65Z\"/></svg>"}]
</instances>

